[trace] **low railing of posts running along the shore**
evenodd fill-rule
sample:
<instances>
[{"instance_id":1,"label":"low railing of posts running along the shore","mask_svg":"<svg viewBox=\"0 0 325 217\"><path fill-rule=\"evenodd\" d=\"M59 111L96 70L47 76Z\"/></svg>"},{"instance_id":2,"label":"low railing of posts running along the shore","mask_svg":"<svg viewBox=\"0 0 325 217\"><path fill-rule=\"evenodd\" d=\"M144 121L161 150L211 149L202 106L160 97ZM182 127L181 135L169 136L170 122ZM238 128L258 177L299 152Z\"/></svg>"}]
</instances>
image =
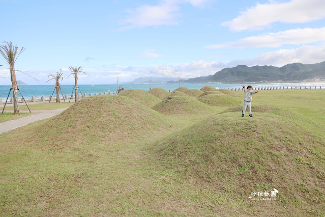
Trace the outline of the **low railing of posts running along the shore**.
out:
<instances>
[{"instance_id":1,"label":"low railing of posts running along the shore","mask_svg":"<svg viewBox=\"0 0 325 217\"><path fill-rule=\"evenodd\" d=\"M253 88L253 90L311 90L311 89L321 89L321 86L305 86L305 87L259 87L259 88ZM228 90L231 91L243 91L244 88L228 88ZM172 92L171 90L169 90L169 93ZM79 98L82 97L88 97L88 96L96 96L96 95L115 95L116 92L100 92L100 93L83 93L82 95L79 94ZM64 98L61 96L60 100L61 102L63 102L64 100L69 101L70 99L74 99L75 95L72 94L71 96L68 96L68 94L66 94L64 96ZM4 100L4 101L3 101ZM56 96L32 96L31 99L27 99L25 97L25 101L26 102L55 102L56 101ZM0 98L0 105L5 104L6 100L4 98ZM21 97L20 100L18 101L19 103L23 103L24 100ZM13 103L13 97L11 97L10 99L8 99L7 104L12 104Z\"/></svg>"}]
</instances>

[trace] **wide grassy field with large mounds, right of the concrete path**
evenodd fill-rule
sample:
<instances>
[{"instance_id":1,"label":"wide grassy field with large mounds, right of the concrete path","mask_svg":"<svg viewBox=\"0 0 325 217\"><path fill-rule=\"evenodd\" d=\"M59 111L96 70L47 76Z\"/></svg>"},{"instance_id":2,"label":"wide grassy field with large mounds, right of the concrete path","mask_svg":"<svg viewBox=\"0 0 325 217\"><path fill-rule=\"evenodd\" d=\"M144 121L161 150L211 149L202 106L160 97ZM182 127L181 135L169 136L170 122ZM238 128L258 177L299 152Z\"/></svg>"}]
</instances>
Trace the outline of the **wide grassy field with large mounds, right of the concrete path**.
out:
<instances>
[{"instance_id":1,"label":"wide grassy field with large mounds, right of the concrete path","mask_svg":"<svg viewBox=\"0 0 325 217\"><path fill-rule=\"evenodd\" d=\"M0 134L0 215L323 216L325 91L313 91L260 91L254 118L87 97ZM248 199L273 188L276 201Z\"/></svg>"}]
</instances>

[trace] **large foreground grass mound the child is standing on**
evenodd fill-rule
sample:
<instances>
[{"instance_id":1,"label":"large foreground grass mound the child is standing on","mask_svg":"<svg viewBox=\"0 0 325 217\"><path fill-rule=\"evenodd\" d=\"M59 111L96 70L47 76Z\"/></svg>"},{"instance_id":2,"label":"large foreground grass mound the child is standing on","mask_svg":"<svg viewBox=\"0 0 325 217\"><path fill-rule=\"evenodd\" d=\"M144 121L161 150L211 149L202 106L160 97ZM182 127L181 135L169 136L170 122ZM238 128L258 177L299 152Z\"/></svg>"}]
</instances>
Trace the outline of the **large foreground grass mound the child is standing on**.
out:
<instances>
[{"instance_id":1,"label":"large foreground grass mound the child is standing on","mask_svg":"<svg viewBox=\"0 0 325 217\"><path fill-rule=\"evenodd\" d=\"M275 215L306 216L324 214L323 146L304 126L272 113L226 113L164 138L153 154L166 174L173 171L205 192L206 205L218 213L250 215L277 207ZM278 193L271 197L274 188ZM258 198L276 201L252 200Z\"/></svg>"}]
</instances>

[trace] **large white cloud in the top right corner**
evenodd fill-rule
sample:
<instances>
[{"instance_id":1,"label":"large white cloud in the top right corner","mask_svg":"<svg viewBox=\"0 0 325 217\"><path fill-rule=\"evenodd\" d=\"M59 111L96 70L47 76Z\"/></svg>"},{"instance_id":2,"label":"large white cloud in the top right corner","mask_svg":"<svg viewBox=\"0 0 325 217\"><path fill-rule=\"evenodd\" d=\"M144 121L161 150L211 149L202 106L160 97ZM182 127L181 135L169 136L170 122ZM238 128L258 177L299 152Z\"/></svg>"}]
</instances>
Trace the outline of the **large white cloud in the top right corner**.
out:
<instances>
[{"instance_id":1,"label":"large white cloud in the top right corner","mask_svg":"<svg viewBox=\"0 0 325 217\"><path fill-rule=\"evenodd\" d=\"M279 3L257 4L240 12L241 15L231 21L221 23L233 31L262 29L273 22L305 23L325 18L325 1L292 0Z\"/></svg>"}]
</instances>

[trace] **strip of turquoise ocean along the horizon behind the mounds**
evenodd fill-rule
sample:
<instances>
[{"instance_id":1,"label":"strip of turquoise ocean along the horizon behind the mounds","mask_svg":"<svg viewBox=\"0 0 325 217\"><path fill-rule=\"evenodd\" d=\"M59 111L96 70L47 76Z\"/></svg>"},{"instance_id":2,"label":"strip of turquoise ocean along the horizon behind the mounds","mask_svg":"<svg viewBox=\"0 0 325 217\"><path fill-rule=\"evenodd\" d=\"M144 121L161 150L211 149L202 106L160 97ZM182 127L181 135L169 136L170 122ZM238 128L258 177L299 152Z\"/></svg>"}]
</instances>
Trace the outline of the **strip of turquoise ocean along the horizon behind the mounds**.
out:
<instances>
[{"instance_id":1,"label":"strip of turquoise ocean along the horizon behind the mounds","mask_svg":"<svg viewBox=\"0 0 325 217\"><path fill-rule=\"evenodd\" d=\"M316 88L319 89L319 87L325 89L325 82L302 82L302 83L263 83L263 84L244 84L245 86L251 85L253 88L261 88L261 87L312 87L312 89ZM134 85L122 85L124 89L139 89L144 91L150 90L150 84L134 84ZM233 88L241 88L242 84L183 84L181 83L181 87L187 87L189 89L201 89L204 86L211 86L214 88L219 89L230 89ZM70 97L72 94L74 85L62 85L62 92L64 95L68 94ZM179 88L179 84L152 84L152 88L163 88L167 91L173 91L177 88ZM0 98L3 98L3 101L6 100L9 90L11 86L10 85L1 85L0 86ZM81 90L81 93L86 93L87 95L89 93L97 93L100 92L111 92L117 90L117 85L79 85L79 88ZM26 99L31 99L32 96L35 96L36 98L40 98L42 95L44 95L46 98L49 98L50 95L52 95L54 86L53 85L21 85L19 86L19 89L23 96ZM80 93L80 92L79 92ZM55 93L54 93L55 94ZM108 93L107 93L108 94ZM12 93L10 94L9 98L12 97ZM18 92L18 97L21 98L20 93Z\"/></svg>"}]
</instances>

